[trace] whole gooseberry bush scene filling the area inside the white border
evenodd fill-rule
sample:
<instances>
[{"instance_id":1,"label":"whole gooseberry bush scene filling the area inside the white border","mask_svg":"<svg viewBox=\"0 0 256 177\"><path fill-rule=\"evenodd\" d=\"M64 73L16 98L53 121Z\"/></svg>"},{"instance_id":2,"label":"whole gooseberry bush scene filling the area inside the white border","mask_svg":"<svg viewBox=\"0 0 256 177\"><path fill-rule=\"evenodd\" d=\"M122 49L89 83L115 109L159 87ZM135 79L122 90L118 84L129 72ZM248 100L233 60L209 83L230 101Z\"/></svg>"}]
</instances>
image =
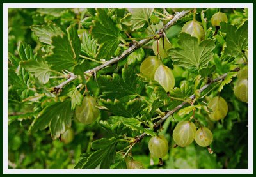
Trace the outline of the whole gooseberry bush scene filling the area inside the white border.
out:
<instances>
[{"instance_id":1,"label":"whole gooseberry bush scene filling the area inside the white border","mask_svg":"<svg viewBox=\"0 0 256 177\"><path fill-rule=\"evenodd\" d=\"M247 168L247 9L8 13L10 168Z\"/></svg>"}]
</instances>

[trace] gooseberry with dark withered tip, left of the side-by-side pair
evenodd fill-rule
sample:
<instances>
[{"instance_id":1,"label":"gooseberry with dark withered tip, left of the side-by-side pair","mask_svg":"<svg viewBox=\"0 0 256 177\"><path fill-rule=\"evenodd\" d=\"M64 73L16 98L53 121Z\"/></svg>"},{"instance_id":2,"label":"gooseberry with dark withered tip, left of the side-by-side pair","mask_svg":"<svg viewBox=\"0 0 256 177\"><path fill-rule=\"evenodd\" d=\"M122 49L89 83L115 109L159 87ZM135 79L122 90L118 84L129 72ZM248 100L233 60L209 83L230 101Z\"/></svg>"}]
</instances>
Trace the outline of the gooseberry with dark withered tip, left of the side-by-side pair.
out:
<instances>
[{"instance_id":1,"label":"gooseberry with dark withered tip, left of the side-by-side pair","mask_svg":"<svg viewBox=\"0 0 256 177\"><path fill-rule=\"evenodd\" d=\"M169 150L168 141L163 135L151 137L148 149L154 157L163 158Z\"/></svg>"}]
</instances>

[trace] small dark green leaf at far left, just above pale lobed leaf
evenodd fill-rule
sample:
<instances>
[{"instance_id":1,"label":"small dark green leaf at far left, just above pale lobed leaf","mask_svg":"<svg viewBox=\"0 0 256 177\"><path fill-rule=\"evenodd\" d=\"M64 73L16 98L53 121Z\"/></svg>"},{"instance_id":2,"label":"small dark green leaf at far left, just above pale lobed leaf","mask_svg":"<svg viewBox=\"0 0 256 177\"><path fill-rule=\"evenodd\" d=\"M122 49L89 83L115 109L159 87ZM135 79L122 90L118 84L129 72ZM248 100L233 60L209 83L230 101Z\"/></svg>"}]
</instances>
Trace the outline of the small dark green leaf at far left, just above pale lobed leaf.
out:
<instances>
[{"instance_id":1,"label":"small dark green leaf at far left, just above pale lobed leaf","mask_svg":"<svg viewBox=\"0 0 256 177\"><path fill-rule=\"evenodd\" d=\"M33 49L26 42L19 42L18 52L22 61L34 58Z\"/></svg>"}]
</instances>

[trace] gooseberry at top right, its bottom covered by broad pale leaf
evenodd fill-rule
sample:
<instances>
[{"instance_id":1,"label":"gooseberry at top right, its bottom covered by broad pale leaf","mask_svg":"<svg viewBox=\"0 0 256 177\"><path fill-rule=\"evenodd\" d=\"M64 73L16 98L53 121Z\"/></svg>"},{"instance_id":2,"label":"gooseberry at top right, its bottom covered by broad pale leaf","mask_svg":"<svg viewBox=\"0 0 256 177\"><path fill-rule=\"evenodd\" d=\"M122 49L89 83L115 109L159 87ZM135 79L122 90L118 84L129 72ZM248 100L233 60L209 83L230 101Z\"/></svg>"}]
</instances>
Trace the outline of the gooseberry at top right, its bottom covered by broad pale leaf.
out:
<instances>
[{"instance_id":1,"label":"gooseberry at top right, its bottom covered by broad pale leaf","mask_svg":"<svg viewBox=\"0 0 256 177\"><path fill-rule=\"evenodd\" d=\"M199 41L204 40L204 29L196 20L186 22L181 31L198 38Z\"/></svg>"}]
</instances>

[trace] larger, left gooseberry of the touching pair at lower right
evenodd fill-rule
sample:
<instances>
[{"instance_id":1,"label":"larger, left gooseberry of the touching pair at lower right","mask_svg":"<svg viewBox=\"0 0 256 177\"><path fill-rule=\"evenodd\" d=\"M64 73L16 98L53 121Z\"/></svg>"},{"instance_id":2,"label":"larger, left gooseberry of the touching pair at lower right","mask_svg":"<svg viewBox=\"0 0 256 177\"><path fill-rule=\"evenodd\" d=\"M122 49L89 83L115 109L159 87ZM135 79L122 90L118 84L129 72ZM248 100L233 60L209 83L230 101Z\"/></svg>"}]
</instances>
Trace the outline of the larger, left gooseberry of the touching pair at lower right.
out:
<instances>
[{"instance_id":1,"label":"larger, left gooseberry of the touching pair at lower right","mask_svg":"<svg viewBox=\"0 0 256 177\"><path fill-rule=\"evenodd\" d=\"M191 121L180 121L173 130L173 140L180 147L191 144L195 139L196 126Z\"/></svg>"}]
</instances>

